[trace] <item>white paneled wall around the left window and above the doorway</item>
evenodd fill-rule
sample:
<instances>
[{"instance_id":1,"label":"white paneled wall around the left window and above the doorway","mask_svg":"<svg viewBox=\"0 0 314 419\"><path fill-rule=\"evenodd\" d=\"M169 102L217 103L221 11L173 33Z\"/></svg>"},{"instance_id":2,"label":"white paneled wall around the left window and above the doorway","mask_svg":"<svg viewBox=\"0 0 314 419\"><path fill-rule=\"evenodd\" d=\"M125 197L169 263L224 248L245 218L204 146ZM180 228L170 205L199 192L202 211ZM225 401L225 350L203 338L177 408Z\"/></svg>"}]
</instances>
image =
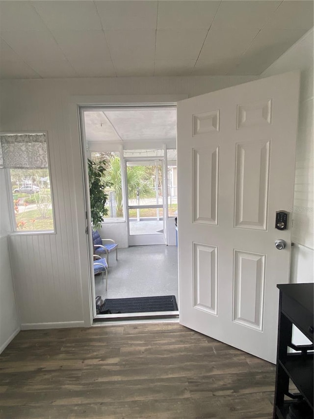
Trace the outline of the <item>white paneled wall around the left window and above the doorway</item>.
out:
<instances>
[{"instance_id":1,"label":"white paneled wall around the left window and above the doorway","mask_svg":"<svg viewBox=\"0 0 314 419\"><path fill-rule=\"evenodd\" d=\"M1 82L2 130L47 130L51 158L55 234L16 234L9 238L21 328L88 326L86 319L90 319L80 141L70 121L72 96L196 96L255 79L135 77Z\"/></svg>"}]
</instances>

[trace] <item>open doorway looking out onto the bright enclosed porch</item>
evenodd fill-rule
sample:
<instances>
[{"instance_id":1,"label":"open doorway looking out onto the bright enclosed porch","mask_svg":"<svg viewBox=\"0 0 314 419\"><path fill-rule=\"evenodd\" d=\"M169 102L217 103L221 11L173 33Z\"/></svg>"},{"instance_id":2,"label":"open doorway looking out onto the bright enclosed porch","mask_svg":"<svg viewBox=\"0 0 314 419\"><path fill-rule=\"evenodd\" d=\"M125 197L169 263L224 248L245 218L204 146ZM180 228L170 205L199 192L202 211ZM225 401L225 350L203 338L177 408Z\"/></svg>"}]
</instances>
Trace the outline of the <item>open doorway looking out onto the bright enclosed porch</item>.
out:
<instances>
[{"instance_id":1,"label":"open doorway looking out onto the bright enclosed porch","mask_svg":"<svg viewBox=\"0 0 314 419\"><path fill-rule=\"evenodd\" d=\"M105 275L94 275L89 238L94 320L178 316L176 106L89 107L80 116L85 174L88 159L106 161L107 215L98 232L118 244L117 260L105 255L106 289ZM127 299L165 296L173 308L158 303L152 311L150 301L151 309L119 309ZM118 299L118 308L104 309Z\"/></svg>"}]
</instances>

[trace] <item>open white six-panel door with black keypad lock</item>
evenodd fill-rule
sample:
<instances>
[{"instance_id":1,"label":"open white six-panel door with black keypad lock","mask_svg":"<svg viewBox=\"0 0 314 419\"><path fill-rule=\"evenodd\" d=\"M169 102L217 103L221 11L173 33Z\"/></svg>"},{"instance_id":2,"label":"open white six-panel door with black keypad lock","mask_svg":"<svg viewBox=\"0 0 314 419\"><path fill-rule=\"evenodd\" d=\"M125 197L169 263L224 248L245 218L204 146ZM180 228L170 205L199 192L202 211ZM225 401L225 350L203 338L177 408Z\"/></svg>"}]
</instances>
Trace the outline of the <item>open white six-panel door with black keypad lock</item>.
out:
<instances>
[{"instance_id":1,"label":"open white six-panel door with black keypad lock","mask_svg":"<svg viewBox=\"0 0 314 419\"><path fill-rule=\"evenodd\" d=\"M292 72L178 103L180 322L273 363L291 248L291 219L275 219L292 210L298 95Z\"/></svg>"}]
</instances>

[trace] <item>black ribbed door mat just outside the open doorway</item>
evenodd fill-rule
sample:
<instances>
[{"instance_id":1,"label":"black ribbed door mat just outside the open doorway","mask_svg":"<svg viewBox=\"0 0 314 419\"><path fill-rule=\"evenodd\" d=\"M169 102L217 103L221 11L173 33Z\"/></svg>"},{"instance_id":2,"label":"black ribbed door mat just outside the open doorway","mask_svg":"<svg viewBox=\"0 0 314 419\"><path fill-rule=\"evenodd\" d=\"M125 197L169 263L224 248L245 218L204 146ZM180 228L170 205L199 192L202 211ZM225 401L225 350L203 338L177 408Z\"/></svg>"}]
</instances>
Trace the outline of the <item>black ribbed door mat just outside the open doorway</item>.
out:
<instances>
[{"instance_id":1,"label":"black ribbed door mat just outside the open doorway","mask_svg":"<svg viewBox=\"0 0 314 419\"><path fill-rule=\"evenodd\" d=\"M100 314L147 313L152 311L178 311L174 295L135 298L108 298L99 309Z\"/></svg>"}]
</instances>

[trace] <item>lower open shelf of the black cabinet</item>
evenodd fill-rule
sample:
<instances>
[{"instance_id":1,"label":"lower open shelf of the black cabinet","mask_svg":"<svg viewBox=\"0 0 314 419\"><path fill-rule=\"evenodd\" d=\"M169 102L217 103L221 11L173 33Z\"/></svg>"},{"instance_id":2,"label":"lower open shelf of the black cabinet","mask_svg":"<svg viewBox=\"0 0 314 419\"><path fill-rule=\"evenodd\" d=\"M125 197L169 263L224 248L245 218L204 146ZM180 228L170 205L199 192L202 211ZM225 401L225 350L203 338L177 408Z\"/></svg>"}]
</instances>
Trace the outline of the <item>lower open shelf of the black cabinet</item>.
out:
<instances>
[{"instance_id":1,"label":"lower open shelf of the black cabinet","mask_svg":"<svg viewBox=\"0 0 314 419\"><path fill-rule=\"evenodd\" d=\"M313 355L290 354L286 361L279 360L279 363L313 409Z\"/></svg>"}]
</instances>

